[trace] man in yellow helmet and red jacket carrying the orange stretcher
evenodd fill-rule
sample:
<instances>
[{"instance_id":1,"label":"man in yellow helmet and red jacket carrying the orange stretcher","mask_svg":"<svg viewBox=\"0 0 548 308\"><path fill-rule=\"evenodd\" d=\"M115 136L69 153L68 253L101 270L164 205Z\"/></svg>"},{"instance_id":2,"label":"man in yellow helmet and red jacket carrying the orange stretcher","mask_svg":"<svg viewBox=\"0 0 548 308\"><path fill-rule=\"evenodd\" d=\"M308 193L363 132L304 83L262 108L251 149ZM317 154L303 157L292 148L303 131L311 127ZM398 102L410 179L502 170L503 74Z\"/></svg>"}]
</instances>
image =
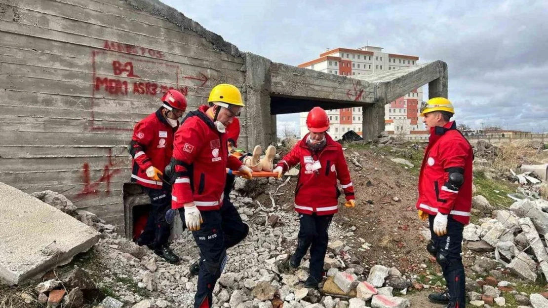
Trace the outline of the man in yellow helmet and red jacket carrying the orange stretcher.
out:
<instances>
[{"instance_id":1,"label":"man in yellow helmet and red jacket carrying the orange stretcher","mask_svg":"<svg viewBox=\"0 0 548 308\"><path fill-rule=\"evenodd\" d=\"M210 308L216 281L226 264L226 248L242 241L249 227L224 194L226 168L252 178L227 148L226 127L244 106L236 86L220 84L209 94L210 106L187 114L175 133L169 168L173 182L172 208L179 209L184 223L200 249L195 308Z\"/></svg>"}]
</instances>

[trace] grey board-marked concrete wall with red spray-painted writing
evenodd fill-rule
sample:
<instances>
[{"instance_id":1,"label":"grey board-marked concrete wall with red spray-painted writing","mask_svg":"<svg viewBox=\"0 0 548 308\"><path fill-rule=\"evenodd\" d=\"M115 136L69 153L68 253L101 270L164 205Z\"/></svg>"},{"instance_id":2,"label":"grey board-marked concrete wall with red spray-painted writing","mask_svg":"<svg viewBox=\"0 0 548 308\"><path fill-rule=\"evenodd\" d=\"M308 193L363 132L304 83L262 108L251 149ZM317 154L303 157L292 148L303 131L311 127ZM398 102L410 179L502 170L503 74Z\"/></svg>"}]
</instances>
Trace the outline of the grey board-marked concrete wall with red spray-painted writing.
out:
<instances>
[{"instance_id":1,"label":"grey board-marked concrete wall with red spray-painted writing","mask_svg":"<svg viewBox=\"0 0 548 308\"><path fill-rule=\"evenodd\" d=\"M159 107L161 92L185 92L192 110L213 85L243 89L246 80L233 45L158 2L130 4L0 0L2 182L66 191L115 225L133 125ZM166 18L141 10L150 5Z\"/></svg>"}]
</instances>

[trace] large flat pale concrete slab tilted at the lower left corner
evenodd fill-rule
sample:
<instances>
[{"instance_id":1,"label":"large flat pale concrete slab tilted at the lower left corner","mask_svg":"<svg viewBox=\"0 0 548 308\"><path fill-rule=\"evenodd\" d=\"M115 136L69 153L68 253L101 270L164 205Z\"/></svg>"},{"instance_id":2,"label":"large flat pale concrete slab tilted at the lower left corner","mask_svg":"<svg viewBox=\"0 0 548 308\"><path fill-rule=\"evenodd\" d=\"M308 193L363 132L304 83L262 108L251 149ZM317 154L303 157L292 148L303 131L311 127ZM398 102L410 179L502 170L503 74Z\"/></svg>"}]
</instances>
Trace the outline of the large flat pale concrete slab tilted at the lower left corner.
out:
<instances>
[{"instance_id":1,"label":"large flat pale concrete slab tilted at the lower left corner","mask_svg":"<svg viewBox=\"0 0 548 308\"><path fill-rule=\"evenodd\" d=\"M68 263L99 241L99 232L0 182L0 280L10 285Z\"/></svg>"}]
</instances>

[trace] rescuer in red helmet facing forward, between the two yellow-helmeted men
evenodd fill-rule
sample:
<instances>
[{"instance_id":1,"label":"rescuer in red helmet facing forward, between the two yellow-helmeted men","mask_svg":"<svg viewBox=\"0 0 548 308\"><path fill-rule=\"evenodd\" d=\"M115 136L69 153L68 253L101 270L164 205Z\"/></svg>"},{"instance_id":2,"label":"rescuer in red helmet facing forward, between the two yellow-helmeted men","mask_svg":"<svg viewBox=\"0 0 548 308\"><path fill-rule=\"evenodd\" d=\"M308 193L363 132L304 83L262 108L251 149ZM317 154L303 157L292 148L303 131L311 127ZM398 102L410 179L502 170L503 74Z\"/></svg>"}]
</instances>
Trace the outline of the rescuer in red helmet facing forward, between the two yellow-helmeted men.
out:
<instances>
[{"instance_id":1,"label":"rescuer in red helmet facing forward, between the two yellow-helmeted men","mask_svg":"<svg viewBox=\"0 0 548 308\"><path fill-rule=\"evenodd\" d=\"M327 230L339 203L337 180L344 190L345 206L354 207L355 201L343 148L327 133L327 113L322 108L312 108L306 126L309 133L278 162L273 172L279 174L299 162L301 164L295 189L295 211L299 213L300 230L289 268L298 268L310 248L310 276L305 287L316 288L323 278L323 260L329 241Z\"/></svg>"}]
</instances>

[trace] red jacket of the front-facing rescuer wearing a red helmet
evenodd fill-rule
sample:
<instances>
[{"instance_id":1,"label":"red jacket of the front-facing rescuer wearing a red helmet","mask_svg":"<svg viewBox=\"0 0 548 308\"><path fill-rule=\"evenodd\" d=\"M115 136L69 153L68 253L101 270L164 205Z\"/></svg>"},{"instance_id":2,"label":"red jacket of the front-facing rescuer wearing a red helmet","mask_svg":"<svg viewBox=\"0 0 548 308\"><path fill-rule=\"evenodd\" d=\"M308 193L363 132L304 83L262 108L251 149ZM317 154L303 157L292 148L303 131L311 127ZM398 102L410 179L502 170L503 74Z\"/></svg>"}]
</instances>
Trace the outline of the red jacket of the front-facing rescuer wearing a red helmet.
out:
<instances>
[{"instance_id":1,"label":"red jacket of the front-facing rescuer wearing a red helmet","mask_svg":"<svg viewBox=\"0 0 548 308\"><path fill-rule=\"evenodd\" d=\"M334 214L337 212L340 195L337 179L343 187L346 200L354 199L354 188L343 148L326 133L326 147L319 154L312 154L306 146L308 136L309 134L298 141L276 166L287 171L299 162L301 164L295 189L295 211L304 214ZM321 167L314 170L316 161L319 161Z\"/></svg>"}]
</instances>

